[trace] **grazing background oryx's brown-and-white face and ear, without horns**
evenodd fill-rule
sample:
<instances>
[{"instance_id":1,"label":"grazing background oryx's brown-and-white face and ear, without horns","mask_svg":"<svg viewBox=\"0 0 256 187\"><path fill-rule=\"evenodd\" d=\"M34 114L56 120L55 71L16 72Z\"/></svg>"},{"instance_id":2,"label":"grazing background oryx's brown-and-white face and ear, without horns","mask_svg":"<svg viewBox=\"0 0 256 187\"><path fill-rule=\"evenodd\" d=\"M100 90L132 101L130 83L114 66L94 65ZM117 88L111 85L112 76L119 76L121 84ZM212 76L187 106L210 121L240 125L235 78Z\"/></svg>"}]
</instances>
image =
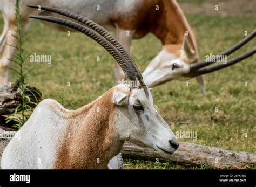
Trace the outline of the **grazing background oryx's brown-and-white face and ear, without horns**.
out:
<instances>
[{"instance_id":1,"label":"grazing background oryx's brown-and-white face and ear, without horns","mask_svg":"<svg viewBox=\"0 0 256 187\"><path fill-rule=\"evenodd\" d=\"M161 85L170 80L187 80L183 74L190 71L190 64L198 60L184 35L182 45L165 45L142 73L149 87Z\"/></svg>"}]
</instances>

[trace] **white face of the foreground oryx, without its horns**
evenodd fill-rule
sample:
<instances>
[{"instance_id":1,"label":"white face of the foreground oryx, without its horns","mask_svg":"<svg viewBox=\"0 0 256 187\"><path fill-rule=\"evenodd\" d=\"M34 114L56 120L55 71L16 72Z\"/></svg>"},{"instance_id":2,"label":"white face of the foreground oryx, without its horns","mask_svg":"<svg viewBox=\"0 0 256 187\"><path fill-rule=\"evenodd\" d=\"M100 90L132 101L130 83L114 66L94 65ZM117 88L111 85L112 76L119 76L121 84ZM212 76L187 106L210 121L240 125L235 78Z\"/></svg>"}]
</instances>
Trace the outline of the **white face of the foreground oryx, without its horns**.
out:
<instances>
[{"instance_id":1,"label":"white face of the foreground oryx, without its horns","mask_svg":"<svg viewBox=\"0 0 256 187\"><path fill-rule=\"evenodd\" d=\"M176 136L153 106L151 93L143 88L129 89L118 85L113 102L118 105L116 130L120 140L151 147L169 157L178 147Z\"/></svg>"}]
</instances>

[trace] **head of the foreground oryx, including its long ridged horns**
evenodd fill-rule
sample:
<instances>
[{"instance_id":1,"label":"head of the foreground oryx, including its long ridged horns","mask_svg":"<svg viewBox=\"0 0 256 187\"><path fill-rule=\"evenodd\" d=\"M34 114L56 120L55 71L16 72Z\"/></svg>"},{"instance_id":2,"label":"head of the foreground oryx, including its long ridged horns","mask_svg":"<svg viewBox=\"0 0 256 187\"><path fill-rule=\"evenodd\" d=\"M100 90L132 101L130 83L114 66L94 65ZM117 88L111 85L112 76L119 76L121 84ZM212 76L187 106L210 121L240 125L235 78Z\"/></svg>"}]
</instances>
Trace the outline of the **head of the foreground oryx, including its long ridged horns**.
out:
<instances>
[{"instance_id":1,"label":"head of the foreground oryx, including its long ridged horns","mask_svg":"<svg viewBox=\"0 0 256 187\"><path fill-rule=\"evenodd\" d=\"M37 6L30 6L37 8ZM41 6L41 10L51 11L81 22L50 16L30 16L65 25L86 34L108 51L125 73L127 84L112 89L112 102L116 106L114 130L120 141L128 140L144 147L156 149L161 155L170 156L179 146L168 124L156 112L149 88L129 53L109 32L91 20L68 11Z\"/></svg>"}]
</instances>

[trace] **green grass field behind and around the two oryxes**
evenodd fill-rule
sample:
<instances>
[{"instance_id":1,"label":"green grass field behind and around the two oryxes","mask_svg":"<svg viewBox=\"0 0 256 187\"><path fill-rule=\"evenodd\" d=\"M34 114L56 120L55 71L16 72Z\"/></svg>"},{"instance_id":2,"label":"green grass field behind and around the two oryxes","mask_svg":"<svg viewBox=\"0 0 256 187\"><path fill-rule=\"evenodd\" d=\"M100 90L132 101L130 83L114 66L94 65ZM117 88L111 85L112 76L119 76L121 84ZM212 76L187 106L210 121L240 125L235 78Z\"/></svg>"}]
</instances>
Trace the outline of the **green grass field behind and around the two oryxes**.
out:
<instances>
[{"instance_id":1,"label":"green grass field behind and around the two oryxes","mask_svg":"<svg viewBox=\"0 0 256 187\"><path fill-rule=\"evenodd\" d=\"M219 53L256 28L255 16L220 17L186 15L198 34L200 59ZM1 22L2 25L2 22ZM82 107L114 86L113 58L95 41L83 34L58 32L41 22L33 22L28 32L27 51L51 54L52 64L26 63L36 68L26 80L41 89L43 98L56 99L69 109ZM238 53L255 47L255 39ZM131 56L140 70L161 50L152 34L133 40ZM100 61L97 61L97 57ZM233 57L233 56L231 56ZM206 146L256 153L256 56L224 70L205 75L207 94L203 95L195 79L172 81L152 91L154 105L176 131L196 131L197 141L179 139ZM14 74L12 74L14 75ZM14 80L12 76L11 80ZM70 87L67 86L70 82ZM245 87L244 83L248 82ZM214 109L218 107L218 113ZM247 135L247 137L246 137ZM124 160L129 169L184 169L189 165ZM194 168L194 167L192 167ZM202 169L207 166L202 165Z\"/></svg>"}]
</instances>

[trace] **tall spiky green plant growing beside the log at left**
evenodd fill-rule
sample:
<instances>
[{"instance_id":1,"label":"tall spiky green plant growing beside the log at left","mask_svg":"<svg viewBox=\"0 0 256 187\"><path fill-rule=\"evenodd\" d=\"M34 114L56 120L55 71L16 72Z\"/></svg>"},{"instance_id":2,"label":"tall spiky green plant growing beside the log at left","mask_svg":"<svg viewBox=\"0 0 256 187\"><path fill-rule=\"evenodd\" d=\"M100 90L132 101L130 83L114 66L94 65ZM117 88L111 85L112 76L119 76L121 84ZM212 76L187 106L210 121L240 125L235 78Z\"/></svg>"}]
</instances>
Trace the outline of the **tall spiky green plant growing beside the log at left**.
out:
<instances>
[{"instance_id":1,"label":"tall spiky green plant growing beside the log at left","mask_svg":"<svg viewBox=\"0 0 256 187\"><path fill-rule=\"evenodd\" d=\"M21 12L19 10L19 0L16 1L15 5L15 18L16 18L16 29L15 37L18 41L15 49L17 53L14 56L14 59L9 59L12 63L17 65L17 70L15 68L10 68L10 70L16 72L16 86L18 87L18 95L21 100L18 103L15 112L12 113L9 117L6 118L6 123L13 121L15 124L12 126L14 128L21 128L22 125L29 119L29 116L33 110L33 108L37 105L38 99L35 94L40 95L37 91L31 91L29 87L25 84L25 78L28 76L29 71L24 68L25 60L29 57L29 55L25 56L24 52L24 43L28 38L23 37L22 29L23 25L21 22ZM24 33L25 35L25 33ZM33 102L31 99L35 102Z\"/></svg>"}]
</instances>

